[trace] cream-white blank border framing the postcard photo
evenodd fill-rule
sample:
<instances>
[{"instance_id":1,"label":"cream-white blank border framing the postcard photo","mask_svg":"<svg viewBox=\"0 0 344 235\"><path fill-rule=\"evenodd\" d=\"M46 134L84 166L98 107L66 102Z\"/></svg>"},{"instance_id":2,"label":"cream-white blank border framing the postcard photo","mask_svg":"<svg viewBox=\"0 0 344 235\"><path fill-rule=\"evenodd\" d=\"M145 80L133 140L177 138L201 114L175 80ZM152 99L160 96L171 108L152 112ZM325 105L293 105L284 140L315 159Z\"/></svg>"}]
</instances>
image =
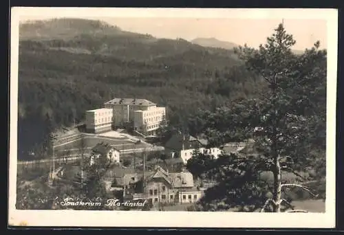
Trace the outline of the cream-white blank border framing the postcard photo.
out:
<instances>
[{"instance_id":1,"label":"cream-white blank border framing the postcard photo","mask_svg":"<svg viewBox=\"0 0 344 235\"><path fill-rule=\"evenodd\" d=\"M325 213L126 212L16 210L19 16L179 17L327 20L327 166ZM52 227L334 227L336 177L336 67L334 9L12 8L10 77L9 225Z\"/></svg>"}]
</instances>

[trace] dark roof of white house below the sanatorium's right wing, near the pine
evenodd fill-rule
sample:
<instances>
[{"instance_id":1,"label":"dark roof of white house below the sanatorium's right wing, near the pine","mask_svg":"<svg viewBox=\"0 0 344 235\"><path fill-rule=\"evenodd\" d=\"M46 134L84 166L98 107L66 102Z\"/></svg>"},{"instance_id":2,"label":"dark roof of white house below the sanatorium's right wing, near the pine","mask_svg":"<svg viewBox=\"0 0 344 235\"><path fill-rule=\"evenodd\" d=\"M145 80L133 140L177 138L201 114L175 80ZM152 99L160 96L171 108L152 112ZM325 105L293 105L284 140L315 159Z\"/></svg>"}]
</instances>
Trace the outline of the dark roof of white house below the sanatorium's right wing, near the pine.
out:
<instances>
[{"instance_id":1,"label":"dark roof of white house below the sanatorium's right wing, near the pine","mask_svg":"<svg viewBox=\"0 0 344 235\"><path fill-rule=\"evenodd\" d=\"M166 142L165 147L172 150L182 150L184 144L184 149L200 148L204 146L199 139L191 135L175 134L169 141Z\"/></svg>"}]
</instances>

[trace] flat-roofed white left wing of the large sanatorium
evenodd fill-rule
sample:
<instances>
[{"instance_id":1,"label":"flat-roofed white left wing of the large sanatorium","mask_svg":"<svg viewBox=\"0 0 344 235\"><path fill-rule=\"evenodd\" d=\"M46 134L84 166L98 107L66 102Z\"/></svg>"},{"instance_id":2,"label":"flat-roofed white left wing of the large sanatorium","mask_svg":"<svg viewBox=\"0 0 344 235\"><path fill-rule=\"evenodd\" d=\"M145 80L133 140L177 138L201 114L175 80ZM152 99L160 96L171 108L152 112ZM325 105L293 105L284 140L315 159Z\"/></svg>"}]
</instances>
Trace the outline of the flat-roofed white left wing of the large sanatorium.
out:
<instances>
[{"instance_id":1,"label":"flat-roofed white left wing of the large sanatorium","mask_svg":"<svg viewBox=\"0 0 344 235\"><path fill-rule=\"evenodd\" d=\"M112 122L112 109L94 109L86 111L85 124L87 132L101 133L111 131Z\"/></svg>"}]
</instances>

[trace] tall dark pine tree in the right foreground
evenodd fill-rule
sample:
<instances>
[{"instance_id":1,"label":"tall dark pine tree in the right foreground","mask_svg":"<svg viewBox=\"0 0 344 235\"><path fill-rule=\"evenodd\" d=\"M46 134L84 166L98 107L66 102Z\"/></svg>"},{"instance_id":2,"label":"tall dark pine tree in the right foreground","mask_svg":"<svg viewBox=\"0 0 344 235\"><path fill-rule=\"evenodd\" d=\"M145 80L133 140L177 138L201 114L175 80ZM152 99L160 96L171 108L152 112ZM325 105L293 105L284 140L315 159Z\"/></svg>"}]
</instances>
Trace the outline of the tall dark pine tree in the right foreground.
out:
<instances>
[{"instance_id":1,"label":"tall dark pine tree in the right foreground","mask_svg":"<svg viewBox=\"0 0 344 235\"><path fill-rule=\"evenodd\" d=\"M266 80L266 89L259 98L235 100L230 107L206 112L206 133L217 146L254 139L257 154L220 157L214 174L222 183L206 192L208 200L222 195L222 203L233 206L236 197L236 205L250 207L242 210L264 211L272 205L272 212L281 212L282 204L291 207L282 197L286 188L312 194L303 185L284 182L282 172L299 175L324 164L326 52L317 42L297 56L291 51L295 43L280 24L259 49L236 49L246 67ZM272 172L271 185L261 179L261 172Z\"/></svg>"}]
</instances>

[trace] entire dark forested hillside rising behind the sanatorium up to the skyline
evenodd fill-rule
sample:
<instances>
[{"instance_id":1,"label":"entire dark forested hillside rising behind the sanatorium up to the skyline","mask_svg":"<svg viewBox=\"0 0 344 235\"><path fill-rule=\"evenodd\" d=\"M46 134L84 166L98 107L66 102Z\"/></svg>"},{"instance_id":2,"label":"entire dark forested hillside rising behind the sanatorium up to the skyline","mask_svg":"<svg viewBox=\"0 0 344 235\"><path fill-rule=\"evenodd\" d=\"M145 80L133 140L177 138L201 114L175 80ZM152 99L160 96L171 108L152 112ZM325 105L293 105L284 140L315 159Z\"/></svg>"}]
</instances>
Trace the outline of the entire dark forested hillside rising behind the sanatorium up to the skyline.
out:
<instances>
[{"instance_id":1,"label":"entire dark forested hillside rising behind the sanatorium up to the skyline","mask_svg":"<svg viewBox=\"0 0 344 235\"><path fill-rule=\"evenodd\" d=\"M233 51L125 32L100 21L25 23L19 43L19 157L54 127L83 121L85 110L114 97L146 98L167 107L171 124L198 109L255 96L263 81Z\"/></svg>"}]
</instances>

